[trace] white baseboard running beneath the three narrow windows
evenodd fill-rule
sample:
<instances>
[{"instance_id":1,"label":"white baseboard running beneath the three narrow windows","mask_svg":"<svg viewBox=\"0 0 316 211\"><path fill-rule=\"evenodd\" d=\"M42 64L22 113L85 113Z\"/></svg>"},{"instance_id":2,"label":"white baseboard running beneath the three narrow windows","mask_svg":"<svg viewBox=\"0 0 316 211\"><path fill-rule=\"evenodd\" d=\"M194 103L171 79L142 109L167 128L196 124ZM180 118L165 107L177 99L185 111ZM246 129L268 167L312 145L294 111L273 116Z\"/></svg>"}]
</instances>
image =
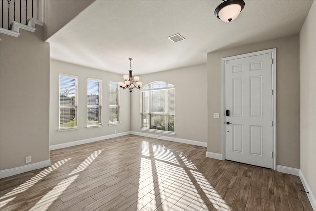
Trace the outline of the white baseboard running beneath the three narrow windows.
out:
<instances>
[{"instance_id":1,"label":"white baseboard running beneath the three narrow windows","mask_svg":"<svg viewBox=\"0 0 316 211\"><path fill-rule=\"evenodd\" d=\"M87 143L91 143L91 142L95 142L95 141L102 141L105 139L116 138L119 136L130 135L130 134L131 134L130 131L128 131L128 132L115 133L115 134L105 135L105 136L100 136L100 137L95 137L95 138L83 139L83 140L79 140L79 141L72 141L72 142L63 143L63 144L55 144L55 145L49 146L49 150L61 149L61 148L65 148L65 147L72 147L72 146L77 146L80 144L87 144Z\"/></svg>"}]
</instances>

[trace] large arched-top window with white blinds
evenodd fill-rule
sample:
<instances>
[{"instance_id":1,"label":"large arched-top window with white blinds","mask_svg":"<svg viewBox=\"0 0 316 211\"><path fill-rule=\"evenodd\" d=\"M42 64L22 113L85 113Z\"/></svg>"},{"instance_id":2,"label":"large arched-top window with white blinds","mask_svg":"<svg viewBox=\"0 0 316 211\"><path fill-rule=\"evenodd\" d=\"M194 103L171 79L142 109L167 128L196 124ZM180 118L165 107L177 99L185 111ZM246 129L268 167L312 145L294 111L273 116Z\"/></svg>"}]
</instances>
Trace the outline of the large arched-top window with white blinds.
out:
<instances>
[{"instance_id":1,"label":"large arched-top window with white blinds","mask_svg":"<svg viewBox=\"0 0 316 211\"><path fill-rule=\"evenodd\" d=\"M152 82L141 91L141 129L174 133L175 89L166 82Z\"/></svg>"}]
</instances>

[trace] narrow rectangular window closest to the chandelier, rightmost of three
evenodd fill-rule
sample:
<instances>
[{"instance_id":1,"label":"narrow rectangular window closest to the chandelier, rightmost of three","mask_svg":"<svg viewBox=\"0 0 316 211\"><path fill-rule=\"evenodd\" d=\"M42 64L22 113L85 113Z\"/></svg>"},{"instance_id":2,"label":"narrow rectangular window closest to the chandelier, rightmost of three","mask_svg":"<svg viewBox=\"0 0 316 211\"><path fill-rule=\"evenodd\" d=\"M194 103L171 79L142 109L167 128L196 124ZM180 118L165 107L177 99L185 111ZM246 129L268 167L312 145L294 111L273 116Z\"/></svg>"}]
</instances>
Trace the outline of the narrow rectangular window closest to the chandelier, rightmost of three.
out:
<instances>
[{"instance_id":1,"label":"narrow rectangular window closest to the chandelier, rightmost of three","mask_svg":"<svg viewBox=\"0 0 316 211\"><path fill-rule=\"evenodd\" d=\"M109 125L119 122L119 93L120 89L117 82L109 83Z\"/></svg>"}]
</instances>

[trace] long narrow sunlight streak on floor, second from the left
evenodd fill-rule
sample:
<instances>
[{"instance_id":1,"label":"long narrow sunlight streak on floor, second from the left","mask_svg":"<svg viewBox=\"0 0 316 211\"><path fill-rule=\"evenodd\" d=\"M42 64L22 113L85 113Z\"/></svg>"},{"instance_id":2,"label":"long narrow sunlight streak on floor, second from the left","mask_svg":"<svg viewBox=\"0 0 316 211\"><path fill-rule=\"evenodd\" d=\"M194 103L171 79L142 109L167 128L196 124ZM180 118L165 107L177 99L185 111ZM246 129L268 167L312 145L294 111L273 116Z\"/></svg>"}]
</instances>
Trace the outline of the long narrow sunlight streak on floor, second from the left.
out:
<instances>
[{"instance_id":1,"label":"long narrow sunlight streak on floor, second from the left","mask_svg":"<svg viewBox=\"0 0 316 211\"><path fill-rule=\"evenodd\" d=\"M103 149L93 152L76 169L74 169L72 172L68 174L68 176L70 177L68 177L67 179L63 179L61 182L59 182L51 191L49 191L45 196L43 196L31 208L31 210L47 210L49 206L68 188L68 186L76 180L76 178L79 176L78 173L86 169L102 151Z\"/></svg>"}]
</instances>

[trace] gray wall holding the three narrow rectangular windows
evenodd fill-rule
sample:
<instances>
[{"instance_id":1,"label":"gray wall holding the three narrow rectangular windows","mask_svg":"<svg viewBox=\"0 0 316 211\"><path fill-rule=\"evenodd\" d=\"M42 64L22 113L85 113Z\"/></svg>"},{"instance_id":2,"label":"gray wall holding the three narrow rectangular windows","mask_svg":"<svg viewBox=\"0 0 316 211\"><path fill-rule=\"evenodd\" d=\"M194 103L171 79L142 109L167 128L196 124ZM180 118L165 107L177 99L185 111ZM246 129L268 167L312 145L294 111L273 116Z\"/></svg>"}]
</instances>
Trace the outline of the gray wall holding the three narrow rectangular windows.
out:
<instances>
[{"instance_id":1,"label":"gray wall holding the three narrow rectangular windows","mask_svg":"<svg viewBox=\"0 0 316 211\"><path fill-rule=\"evenodd\" d=\"M58 131L59 116L59 73L78 76L78 130ZM102 110L103 127L86 128L87 126L87 78L102 80ZM51 60L50 65L50 145L63 144L88 138L130 131L130 93L121 91L120 125L109 126L109 81L122 81L123 76L103 70L92 69L61 61Z\"/></svg>"}]
</instances>

